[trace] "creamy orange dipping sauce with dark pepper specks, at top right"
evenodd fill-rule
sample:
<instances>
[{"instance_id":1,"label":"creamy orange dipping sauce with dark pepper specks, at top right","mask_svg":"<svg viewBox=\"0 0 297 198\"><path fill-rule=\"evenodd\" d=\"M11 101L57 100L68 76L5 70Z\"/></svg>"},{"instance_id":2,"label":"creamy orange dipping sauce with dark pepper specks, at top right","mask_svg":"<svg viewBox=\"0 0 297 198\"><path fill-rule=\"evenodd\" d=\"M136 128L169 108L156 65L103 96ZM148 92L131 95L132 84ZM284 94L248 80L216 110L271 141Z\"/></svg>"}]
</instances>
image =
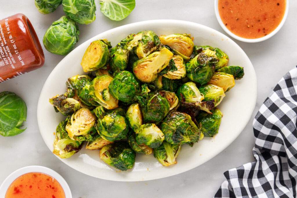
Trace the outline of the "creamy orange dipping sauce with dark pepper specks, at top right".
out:
<instances>
[{"instance_id":1,"label":"creamy orange dipping sauce with dark pepper specks, at top right","mask_svg":"<svg viewBox=\"0 0 297 198\"><path fill-rule=\"evenodd\" d=\"M239 37L256 39L274 31L285 15L286 0L219 0L225 26Z\"/></svg>"}]
</instances>

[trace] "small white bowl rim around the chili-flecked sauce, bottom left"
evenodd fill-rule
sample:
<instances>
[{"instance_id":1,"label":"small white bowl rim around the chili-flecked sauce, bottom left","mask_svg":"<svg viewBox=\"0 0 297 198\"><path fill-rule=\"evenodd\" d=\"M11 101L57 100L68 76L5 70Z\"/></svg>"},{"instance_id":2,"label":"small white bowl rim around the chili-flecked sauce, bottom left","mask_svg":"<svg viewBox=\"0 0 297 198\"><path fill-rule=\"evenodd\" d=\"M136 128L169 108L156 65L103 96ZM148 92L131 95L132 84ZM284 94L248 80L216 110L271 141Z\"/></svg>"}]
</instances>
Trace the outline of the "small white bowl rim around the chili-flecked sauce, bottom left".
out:
<instances>
[{"instance_id":1,"label":"small white bowl rim around the chili-flecked sauce, bottom left","mask_svg":"<svg viewBox=\"0 0 297 198\"><path fill-rule=\"evenodd\" d=\"M65 197L72 198L70 188L64 178L62 178L62 176L59 175L59 173L57 173L56 171L43 166L26 166L16 170L15 172L12 172L0 186L0 197L5 197L8 187L16 178L29 172L40 172L55 178L61 184L62 189L65 193Z\"/></svg>"}]
</instances>

